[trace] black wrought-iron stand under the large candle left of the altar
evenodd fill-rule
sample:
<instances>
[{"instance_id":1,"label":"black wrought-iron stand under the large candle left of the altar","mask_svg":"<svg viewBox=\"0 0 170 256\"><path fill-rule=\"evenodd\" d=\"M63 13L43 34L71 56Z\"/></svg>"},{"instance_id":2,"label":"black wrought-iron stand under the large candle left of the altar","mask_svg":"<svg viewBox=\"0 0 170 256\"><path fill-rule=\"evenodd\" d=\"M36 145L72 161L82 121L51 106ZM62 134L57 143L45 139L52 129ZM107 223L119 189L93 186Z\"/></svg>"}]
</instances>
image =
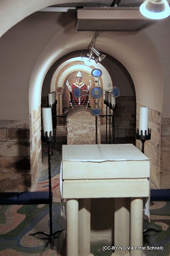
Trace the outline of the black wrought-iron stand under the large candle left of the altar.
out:
<instances>
[{"instance_id":1,"label":"black wrought-iron stand under the large candle left of the altar","mask_svg":"<svg viewBox=\"0 0 170 256\"><path fill-rule=\"evenodd\" d=\"M54 131L53 131L54 132ZM54 133L53 133L54 134ZM49 182L49 218L50 218L50 233L46 233L46 232L35 232L33 234L30 235L37 235L37 234L41 234L41 235L45 235L49 238L50 242L51 242L51 249L55 249L55 245L54 245L54 238L58 238L59 234L63 231L63 230L59 230L53 233L53 222L52 222L52 194L51 194L51 143L54 142L55 137L54 135L47 135L47 132L45 133L44 136L44 132L41 131L41 140L47 143L48 146L48 182ZM57 235L58 234L58 235ZM57 236L55 236L57 235ZM40 238L40 239L45 239L45 238Z\"/></svg>"}]
</instances>

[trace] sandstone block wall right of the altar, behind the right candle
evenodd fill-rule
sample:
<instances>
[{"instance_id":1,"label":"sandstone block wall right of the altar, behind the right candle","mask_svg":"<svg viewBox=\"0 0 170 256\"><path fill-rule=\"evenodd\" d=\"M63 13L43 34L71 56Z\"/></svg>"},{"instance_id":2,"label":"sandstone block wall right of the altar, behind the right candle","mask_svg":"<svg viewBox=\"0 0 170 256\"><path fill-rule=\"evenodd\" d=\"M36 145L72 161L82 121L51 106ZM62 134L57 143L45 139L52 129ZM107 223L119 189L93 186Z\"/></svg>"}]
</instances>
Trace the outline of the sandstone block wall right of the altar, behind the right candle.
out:
<instances>
[{"instance_id":1,"label":"sandstone block wall right of the altar, behind the right candle","mask_svg":"<svg viewBox=\"0 0 170 256\"><path fill-rule=\"evenodd\" d=\"M136 105L136 127L139 128L139 108ZM150 180L156 188L170 188L170 119L160 112L149 109L151 139L144 143L144 154L150 158ZM136 140L136 147L142 143Z\"/></svg>"}]
</instances>

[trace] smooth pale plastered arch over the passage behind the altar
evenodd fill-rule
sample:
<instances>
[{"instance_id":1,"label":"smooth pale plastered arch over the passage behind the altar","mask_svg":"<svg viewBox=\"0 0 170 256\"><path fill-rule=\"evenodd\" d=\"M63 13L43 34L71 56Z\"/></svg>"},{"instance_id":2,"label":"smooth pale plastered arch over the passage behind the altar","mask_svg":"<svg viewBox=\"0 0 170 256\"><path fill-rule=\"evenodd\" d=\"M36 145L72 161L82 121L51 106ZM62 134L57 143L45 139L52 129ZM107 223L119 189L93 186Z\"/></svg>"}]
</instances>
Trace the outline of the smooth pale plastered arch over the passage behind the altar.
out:
<instances>
[{"instance_id":1,"label":"smooth pale plastered arch over the passage behind the altar","mask_svg":"<svg viewBox=\"0 0 170 256\"><path fill-rule=\"evenodd\" d=\"M94 32L76 32L72 22L51 39L31 75L30 112L41 104L42 83L51 65L67 53L88 47L93 36ZM134 82L137 103L162 111L163 72L159 55L145 32L102 32L96 40L96 48L118 59L125 66Z\"/></svg>"}]
</instances>

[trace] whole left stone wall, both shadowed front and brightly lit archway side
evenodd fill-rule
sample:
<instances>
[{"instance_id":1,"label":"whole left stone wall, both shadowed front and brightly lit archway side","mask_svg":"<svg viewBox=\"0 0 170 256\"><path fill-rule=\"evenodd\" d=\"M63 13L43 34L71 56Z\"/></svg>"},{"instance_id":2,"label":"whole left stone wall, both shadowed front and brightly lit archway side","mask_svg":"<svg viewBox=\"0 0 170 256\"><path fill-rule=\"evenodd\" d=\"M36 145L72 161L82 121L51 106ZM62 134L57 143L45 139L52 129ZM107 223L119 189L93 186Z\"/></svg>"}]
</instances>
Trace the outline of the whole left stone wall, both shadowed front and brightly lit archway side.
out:
<instances>
[{"instance_id":1,"label":"whole left stone wall, both shadowed front and brightly lit archway side","mask_svg":"<svg viewBox=\"0 0 170 256\"><path fill-rule=\"evenodd\" d=\"M31 191L42 165L41 107L26 121L0 121L0 192Z\"/></svg>"}]
</instances>

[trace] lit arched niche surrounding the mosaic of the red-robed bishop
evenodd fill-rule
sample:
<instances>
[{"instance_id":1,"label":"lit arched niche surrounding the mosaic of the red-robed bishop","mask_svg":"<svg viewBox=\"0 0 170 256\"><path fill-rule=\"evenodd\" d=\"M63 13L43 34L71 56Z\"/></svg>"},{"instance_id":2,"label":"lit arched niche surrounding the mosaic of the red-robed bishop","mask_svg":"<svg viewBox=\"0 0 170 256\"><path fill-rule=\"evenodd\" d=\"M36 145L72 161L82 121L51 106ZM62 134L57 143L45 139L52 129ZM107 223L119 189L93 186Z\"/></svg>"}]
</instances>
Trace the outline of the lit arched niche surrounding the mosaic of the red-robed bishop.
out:
<instances>
[{"instance_id":1,"label":"lit arched niche surrounding the mosaic of the red-robed bishop","mask_svg":"<svg viewBox=\"0 0 170 256\"><path fill-rule=\"evenodd\" d=\"M77 55L79 56L79 54L80 53L78 52ZM102 64L96 64L96 62L93 61L91 65L86 65L85 60L87 60L86 57L74 57L71 59L67 59L54 71L54 74L51 78L50 91L57 91L57 101L59 103L57 105L57 112L60 114L62 113L61 108L69 106L70 93L66 86L66 81L68 80L70 85L73 84L74 82L76 82L77 72L81 71L83 82L86 85L89 85L91 81L91 91L91 89L96 86L96 78L91 75L91 72L94 68L99 68L102 71L102 76L99 77L99 86L102 88L103 94L102 98L99 101L99 107L102 109L103 112L103 99L105 91L111 90L111 88L113 87L111 76ZM94 100L91 98L90 92L89 100L90 106L94 107Z\"/></svg>"}]
</instances>

